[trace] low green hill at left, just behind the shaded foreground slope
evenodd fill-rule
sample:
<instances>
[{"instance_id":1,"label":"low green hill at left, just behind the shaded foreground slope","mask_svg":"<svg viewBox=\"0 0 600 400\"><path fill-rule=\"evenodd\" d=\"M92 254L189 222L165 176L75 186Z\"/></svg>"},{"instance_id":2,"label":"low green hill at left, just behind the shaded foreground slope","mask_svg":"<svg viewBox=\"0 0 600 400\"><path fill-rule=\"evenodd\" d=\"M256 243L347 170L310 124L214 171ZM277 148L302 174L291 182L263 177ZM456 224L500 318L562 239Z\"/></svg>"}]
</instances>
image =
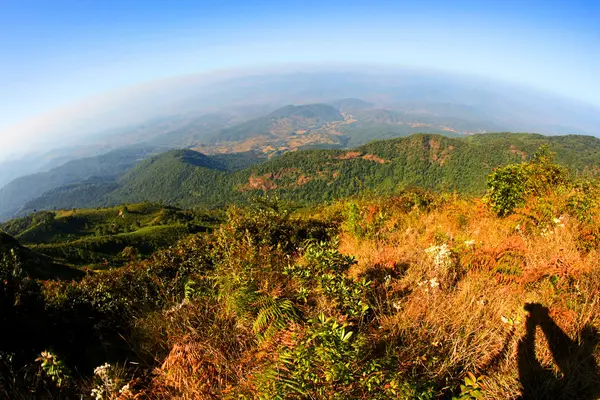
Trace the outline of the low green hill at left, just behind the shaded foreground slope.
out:
<instances>
[{"instance_id":1,"label":"low green hill at left, just behind the shaded foreground slope","mask_svg":"<svg viewBox=\"0 0 600 400\"><path fill-rule=\"evenodd\" d=\"M64 263L120 265L171 246L189 233L210 230L217 223L206 213L146 202L41 211L6 222L0 230ZM126 248L130 249L124 252Z\"/></svg>"}]
</instances>

